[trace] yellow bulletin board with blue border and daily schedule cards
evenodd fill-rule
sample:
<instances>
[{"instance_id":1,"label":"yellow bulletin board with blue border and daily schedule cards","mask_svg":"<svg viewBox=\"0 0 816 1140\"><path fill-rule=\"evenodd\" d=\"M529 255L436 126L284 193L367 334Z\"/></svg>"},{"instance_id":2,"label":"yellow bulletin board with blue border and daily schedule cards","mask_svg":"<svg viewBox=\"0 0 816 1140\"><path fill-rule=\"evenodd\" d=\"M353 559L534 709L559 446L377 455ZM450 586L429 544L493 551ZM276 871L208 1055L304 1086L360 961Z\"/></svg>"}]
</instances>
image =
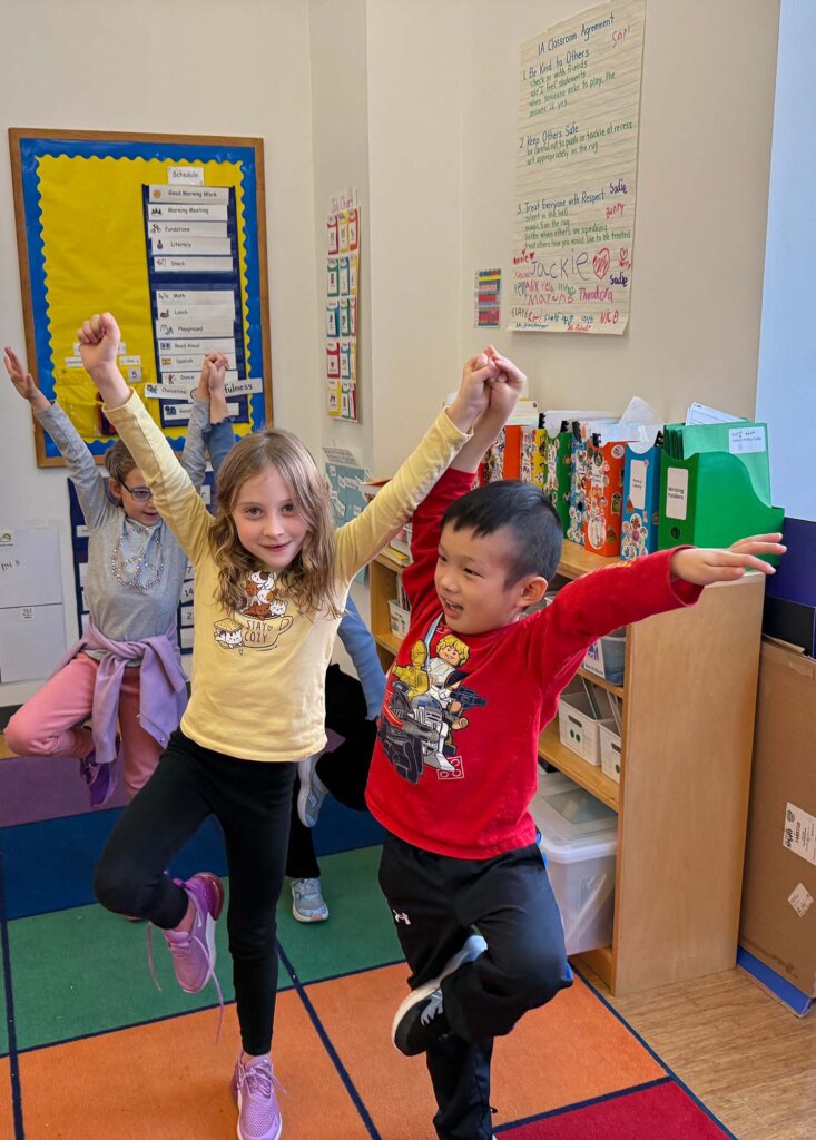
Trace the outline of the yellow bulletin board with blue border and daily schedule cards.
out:
<instances>
[{"instance_id":1,"label":"yellow bulletin board with blue border and daily schedule cards","mask_svg":"<svg viewBox=\"0 0 816 1140\"><path fill-rule=\"evenodd\" d=\"M262 139L10 128L9 148L28 367L97 462L114 437L76 343L95 312L177 450L207 351L236 433L271 424ZM35 431L38 465L62 465Z\"/></svg>"}]
</instances>

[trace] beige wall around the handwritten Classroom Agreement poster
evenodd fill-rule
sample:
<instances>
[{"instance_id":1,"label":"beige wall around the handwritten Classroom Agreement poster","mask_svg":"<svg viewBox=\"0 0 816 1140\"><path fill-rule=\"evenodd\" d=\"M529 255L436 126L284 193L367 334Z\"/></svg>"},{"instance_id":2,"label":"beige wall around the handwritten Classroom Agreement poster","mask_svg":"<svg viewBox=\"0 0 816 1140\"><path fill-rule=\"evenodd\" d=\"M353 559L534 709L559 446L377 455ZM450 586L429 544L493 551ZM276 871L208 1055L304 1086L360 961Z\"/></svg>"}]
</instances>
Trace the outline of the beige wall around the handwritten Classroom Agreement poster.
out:
<instances>
[{"instance_id":1,"label":"beige wall around the handwritten Classroom Agreement poster","mask_svg":"<svg viewBox=\"0 0 816 1140\"><path fill-rule=\"evenodd\" d=\"M581 5L466 8L459 319L472 343L474 270L501 264L508 279L519 44ZM542 404L622 408L636 392L667 420L692 400L753 415L777 31L776 0L647 0L629 327L497 333Z\"/></svg>"}]
</instances>

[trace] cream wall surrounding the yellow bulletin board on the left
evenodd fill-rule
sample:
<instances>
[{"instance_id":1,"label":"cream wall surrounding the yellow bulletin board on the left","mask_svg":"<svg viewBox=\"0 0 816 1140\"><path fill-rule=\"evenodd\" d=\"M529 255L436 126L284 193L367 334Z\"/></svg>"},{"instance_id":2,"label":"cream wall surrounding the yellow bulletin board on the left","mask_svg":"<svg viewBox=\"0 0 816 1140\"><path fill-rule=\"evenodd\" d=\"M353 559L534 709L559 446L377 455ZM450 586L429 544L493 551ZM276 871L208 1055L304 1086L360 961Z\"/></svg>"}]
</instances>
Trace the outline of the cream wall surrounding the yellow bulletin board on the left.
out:
<instances>
[{"instance_id":1,"label":"cream wall surrounding the yellow bulletin board on the left","mask_svg":"<svg viewBox=\"0 0 816 1140\"><path fill-rule=\"evenodd\" d=\"M305 0L3 0L0 125L264 139L276 422L319 442L311 81ZM0 162L2 343L24 348L10 170ZM115 298L112 299L112 308ZM65 474L34 465L31 416L0 377L2 524L60 523L76 636ZM36 683L0 685L0 705Z\"/></svg>"}]
</instances>

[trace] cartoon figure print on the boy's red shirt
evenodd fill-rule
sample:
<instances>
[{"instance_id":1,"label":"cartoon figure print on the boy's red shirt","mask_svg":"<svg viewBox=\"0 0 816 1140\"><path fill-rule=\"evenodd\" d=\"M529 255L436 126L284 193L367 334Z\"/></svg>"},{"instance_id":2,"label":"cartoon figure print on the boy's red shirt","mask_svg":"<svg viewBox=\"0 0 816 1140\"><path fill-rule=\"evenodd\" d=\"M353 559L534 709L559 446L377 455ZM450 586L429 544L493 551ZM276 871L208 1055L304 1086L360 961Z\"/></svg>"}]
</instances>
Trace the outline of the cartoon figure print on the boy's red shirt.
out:
<instances>
[{"instance_id":1,"label":"cartoon figure print on the boy's red shirt","mask_svg":"<svg viewBox=\"0 0 816 1140\"><path fill-rule=\"evenodd\" d=\"M394 772L418 783L427 769L440 780L464 780L465 767L454 733L470 724L470 714L487 705L468 689L462 668L470 646L456 634L435 644L441 617L410 649L410 665L393 665L380 718L380 740Z\"/></svg>"}]
</instances>

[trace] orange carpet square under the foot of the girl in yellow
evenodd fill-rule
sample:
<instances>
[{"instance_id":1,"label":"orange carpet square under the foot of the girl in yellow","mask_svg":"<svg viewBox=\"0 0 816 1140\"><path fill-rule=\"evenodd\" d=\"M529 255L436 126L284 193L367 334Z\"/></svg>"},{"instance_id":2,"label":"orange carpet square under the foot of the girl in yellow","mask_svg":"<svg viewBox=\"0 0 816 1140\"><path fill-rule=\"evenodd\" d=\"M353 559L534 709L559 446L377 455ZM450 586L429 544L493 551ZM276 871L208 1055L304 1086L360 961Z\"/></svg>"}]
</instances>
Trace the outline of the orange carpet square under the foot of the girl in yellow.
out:
<instances>
[{"instance_id":1,"label":"orange carpet square under the foot of the girl in yellow","mask_svg":"<svg viewBox=\"0 0 816 1140\"><path fill-rule=\"evenodd\" d=\"M300 997L278 995L272 1054L289 1137L368 1140ZM85 1037L21 1056L26 1140L223 1140L235 1135L229 1078L238 1051L235 1005ZM8 1067L8 1066L6 1066ZM3 1082L8 1088L8 1078ZM0 1105L0 1125L2 1113ZM331 1122L331 1126L327 1122ZM0 1126L0 1135L13 1135Z\"/></svg>"}]
</instances>

